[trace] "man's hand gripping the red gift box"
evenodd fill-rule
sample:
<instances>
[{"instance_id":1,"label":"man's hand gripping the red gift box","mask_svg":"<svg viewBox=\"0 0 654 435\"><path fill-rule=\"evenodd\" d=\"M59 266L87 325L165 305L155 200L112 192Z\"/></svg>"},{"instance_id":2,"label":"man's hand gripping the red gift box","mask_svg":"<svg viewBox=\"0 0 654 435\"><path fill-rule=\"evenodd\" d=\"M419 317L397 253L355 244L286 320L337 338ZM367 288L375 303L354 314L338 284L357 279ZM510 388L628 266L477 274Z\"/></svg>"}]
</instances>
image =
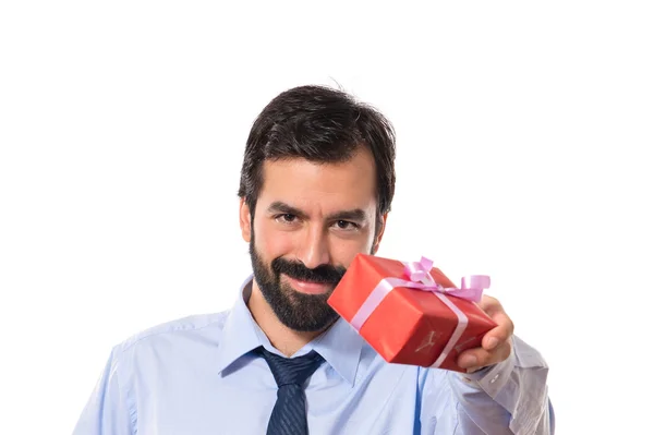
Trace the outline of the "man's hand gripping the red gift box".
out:
<instances>
[{"instance_id":1,"label":"man's hand gripping the red gift box","mask_svg":"<svg viewBox=\"0 0 654 435\"><path fill-rule=\"evenodd\" d=\"M459 355L457 363L468 373L505 361L511 354L511 336L513 335L513 322L505 313L501 304L495 298L482 295L477 304L497 324L484 338L482 346L468 349Z\"/></svg>"}]
</instances>

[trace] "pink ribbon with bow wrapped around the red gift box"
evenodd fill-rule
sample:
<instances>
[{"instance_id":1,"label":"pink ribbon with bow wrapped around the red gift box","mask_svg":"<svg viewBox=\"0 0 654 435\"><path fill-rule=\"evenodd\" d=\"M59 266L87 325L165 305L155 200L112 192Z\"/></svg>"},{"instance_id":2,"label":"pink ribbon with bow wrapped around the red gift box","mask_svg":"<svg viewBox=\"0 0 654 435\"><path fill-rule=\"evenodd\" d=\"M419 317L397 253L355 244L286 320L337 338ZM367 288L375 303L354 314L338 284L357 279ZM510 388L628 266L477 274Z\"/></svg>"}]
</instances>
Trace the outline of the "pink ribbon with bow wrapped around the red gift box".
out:
<instances>
[{"instance_id":1,"label":"pink ribbon with bow wrapped around the red gift box","mask_svg":"<svg viewBox=\"0 0 654 435\"><path fill-rule=\"evenodd\" d=\"M445 295L479 302L482 300L482 292L484 289L491 287L491 277L486 275L471 275L461 278L460 288L445 288L436 282L432 274L429 274L432 270L432 265L434 264L434 262L431 259L422 257L420 262L402 262L402 264L404 265L404 276L409 280L395 277L382 279L371 294L368 294L363 304L359 307L359 311L354 314L350 324L359 331L365 321L367 321L371 314L373 314L375 309L379 306L384 298L386 298L386 295L397 287L431 291L451 311L453 311L458 318L458 325L455 329L455 333L443 349L440 355L438 355L434 364L432 364L432 367L439 367L449 352L457 345L468 326L468 316Z\"/></svg>"}]
</instances>

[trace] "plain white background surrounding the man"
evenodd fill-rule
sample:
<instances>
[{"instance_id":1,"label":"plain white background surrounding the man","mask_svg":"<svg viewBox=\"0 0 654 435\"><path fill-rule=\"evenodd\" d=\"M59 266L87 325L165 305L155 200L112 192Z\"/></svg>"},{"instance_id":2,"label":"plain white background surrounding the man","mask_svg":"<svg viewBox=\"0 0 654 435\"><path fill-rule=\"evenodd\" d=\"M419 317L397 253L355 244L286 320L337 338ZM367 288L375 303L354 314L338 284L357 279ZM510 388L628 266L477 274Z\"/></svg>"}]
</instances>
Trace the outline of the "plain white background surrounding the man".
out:
<instances>
[{"instance_id":1,"label":"plain white background surrounding the man","mask_svg":"<svg viewBox=\"0 0 654 435\"><path fill-rule=\"evenodd\" d=\"M307 83L393 122L379 255L492 276L557 434L652 427L649 2L223 3L0 5L0 434L70 433L113 345L232 304L245 138Z\"/></svg>"}]
</instances>

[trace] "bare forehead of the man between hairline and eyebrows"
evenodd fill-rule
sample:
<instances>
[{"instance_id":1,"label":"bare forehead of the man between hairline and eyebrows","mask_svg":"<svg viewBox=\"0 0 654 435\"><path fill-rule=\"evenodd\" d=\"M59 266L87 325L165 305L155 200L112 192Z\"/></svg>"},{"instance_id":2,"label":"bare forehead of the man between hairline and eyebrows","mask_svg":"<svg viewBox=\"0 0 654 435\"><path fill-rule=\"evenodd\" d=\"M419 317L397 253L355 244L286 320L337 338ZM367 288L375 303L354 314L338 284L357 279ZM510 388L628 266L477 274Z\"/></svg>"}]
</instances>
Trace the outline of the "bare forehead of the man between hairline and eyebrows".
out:
<instances>
[{"instance_id":1,"label":"bare forehead of the man between hairline and eyebrows","mask_svg":"<svg viewBox=\"0 0 654 435\"><path fill-rule=\"evenodd\" d=\"M362 147L351 159L337 164L302 158L265 161L257 203L267 206L282 201L308 213L375 208L375 188L374 159Z\"/></svg>"}]
</instances>

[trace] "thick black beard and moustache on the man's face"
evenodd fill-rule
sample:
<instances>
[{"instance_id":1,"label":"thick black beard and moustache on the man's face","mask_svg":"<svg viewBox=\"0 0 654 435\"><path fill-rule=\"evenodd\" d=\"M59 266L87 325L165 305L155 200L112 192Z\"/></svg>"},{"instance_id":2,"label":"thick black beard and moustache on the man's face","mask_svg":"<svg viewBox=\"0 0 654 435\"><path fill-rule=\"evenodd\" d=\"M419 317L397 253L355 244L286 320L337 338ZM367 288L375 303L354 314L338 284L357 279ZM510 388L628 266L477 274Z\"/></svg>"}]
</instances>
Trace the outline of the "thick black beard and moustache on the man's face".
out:
<instances>
[{"instance_id":1,"label":"thick black beard and moustache on the man's face","mask_svg":"<svg viewBox=\"0 0 654 435\"><path fill-rule=\"evenodd\" d=\"M282 257L275 258L270 267L267 267L256 252L254 234L250 242L250 257L254 279L262 294L288 328L298 331L322 331L339 317L327 303L327 299L346 274L344 267L325 264L310 269L301 262L290 262ZM331 285L331 288L324 294L305 294L281 282L281 274L301 281Z\"/></svg>"}]
</instances>

